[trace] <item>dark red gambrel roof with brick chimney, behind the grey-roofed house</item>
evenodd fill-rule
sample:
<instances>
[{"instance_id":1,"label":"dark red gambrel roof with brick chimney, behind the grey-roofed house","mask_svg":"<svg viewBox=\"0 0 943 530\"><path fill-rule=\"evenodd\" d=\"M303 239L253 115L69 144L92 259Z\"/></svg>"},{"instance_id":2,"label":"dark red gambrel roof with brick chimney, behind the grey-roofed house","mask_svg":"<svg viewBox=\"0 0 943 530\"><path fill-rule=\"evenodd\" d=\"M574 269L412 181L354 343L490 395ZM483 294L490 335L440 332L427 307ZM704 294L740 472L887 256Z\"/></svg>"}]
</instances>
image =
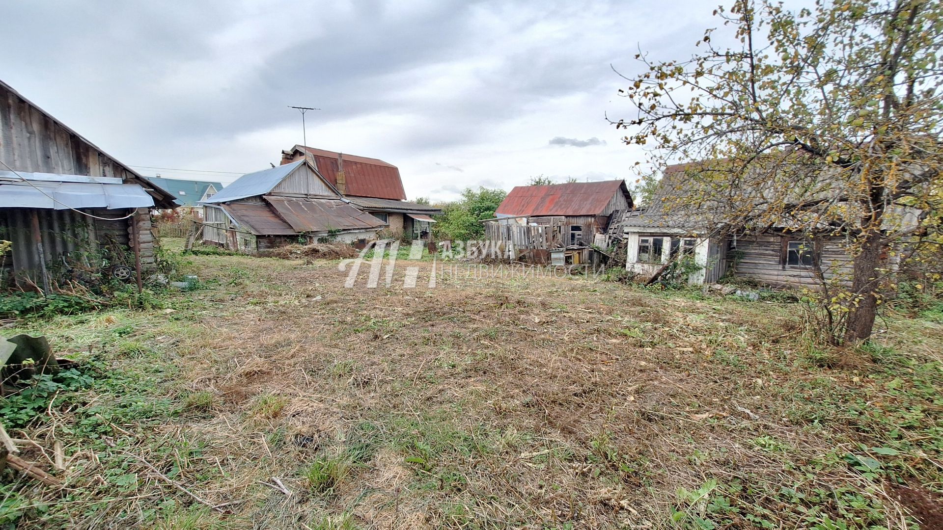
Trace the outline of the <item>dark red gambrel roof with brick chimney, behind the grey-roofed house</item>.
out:
<instances>
[{"instance_id":1,"label":"dark red gambrel roof with brick chimney, behind the grey-roofed house","mask_svg":"<svg viewBox=\"0 0 943 530\"><path fill-rule=\"evenodd\" d=\"M344 177L347 182L345 195L398 200L406 198L403 181L400 179L400 170L392 164L378 158L357 157L346 153L341 155L334 151L324 151L302 145L296 145L294 148L298 150L296 157L283 158L283 164L300 158L300 151L304 148L313 158L318 173L335 187L338 185L338 157L342 157Z\"/></svg>"}]
</instances>

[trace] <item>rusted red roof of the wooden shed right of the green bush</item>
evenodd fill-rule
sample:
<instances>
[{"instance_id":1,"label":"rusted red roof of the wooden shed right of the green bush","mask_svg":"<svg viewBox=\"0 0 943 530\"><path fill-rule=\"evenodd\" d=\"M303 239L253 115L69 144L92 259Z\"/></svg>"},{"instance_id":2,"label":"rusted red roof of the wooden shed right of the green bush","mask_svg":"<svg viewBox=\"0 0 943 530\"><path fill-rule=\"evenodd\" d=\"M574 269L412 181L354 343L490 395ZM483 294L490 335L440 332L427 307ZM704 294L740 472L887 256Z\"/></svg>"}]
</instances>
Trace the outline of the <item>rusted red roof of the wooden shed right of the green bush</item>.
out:
<instances>
[{"instance_id":1,"label":"rusted red roof of the wooden shed right of the green bush","mask_svg":"<svg viewBox=\"0 0 943 530\"><path fill-rule=\"evenodd\" d=\"M507 194L496 215L599 215L616 193L624 193L632 206L632 196L624 180L570 182L547 186L515 186Z\"/></svg>"}]
</instances>

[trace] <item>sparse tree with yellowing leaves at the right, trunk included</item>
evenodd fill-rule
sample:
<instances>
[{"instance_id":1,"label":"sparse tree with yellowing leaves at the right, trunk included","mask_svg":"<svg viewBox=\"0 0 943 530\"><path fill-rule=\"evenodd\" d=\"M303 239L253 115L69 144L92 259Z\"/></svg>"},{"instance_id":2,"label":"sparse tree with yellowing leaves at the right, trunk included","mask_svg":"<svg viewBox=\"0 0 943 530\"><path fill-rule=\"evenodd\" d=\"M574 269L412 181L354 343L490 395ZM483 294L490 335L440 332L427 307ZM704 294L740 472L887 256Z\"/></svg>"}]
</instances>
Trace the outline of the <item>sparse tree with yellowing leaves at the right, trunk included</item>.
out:
<instances>
[{"instance_id":1,"label":"sparse tree with yellowing leaves at the right, trunk included","mask_svg":"<svg viewBox=\"0 0 943 530\"><path fill-rule=\"evenodd\" d=\"M722 31L708 29L693 57L636 56L641 73L620 91L636 113L617 123L623 141L654 147L655 167L713 161L687 171L688 192L666 197L668 209L696 210L718 230L787 222L844 237L852 271L823 280L819 307L836 342L867 340L892 283L884 249L936 233L938 216L914 225L903 214L939 206L943 3L793 11L739 0L715 14Z\"/></svg>"}]
</instances>

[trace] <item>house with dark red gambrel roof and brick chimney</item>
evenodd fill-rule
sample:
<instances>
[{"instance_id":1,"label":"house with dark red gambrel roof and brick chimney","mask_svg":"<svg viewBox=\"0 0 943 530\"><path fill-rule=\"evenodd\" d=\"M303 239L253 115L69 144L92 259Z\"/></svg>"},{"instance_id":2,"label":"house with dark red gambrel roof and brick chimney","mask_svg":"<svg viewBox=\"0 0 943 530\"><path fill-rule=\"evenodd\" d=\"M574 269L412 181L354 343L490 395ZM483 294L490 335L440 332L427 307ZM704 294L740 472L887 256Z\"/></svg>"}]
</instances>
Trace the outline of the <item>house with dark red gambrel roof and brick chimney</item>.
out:
<instances>
[{"instance_id":1,"label":"house with dark red gambrel roof and brick chimney","mask_svg":"<svg viewBox=\"0 0 943 530\"><path fill-rule=\"evenodd\" d=\"M388 162L295 145L282 151L282 164L305 157L341 195L382 221L390 236L418 239L435 223L430 216L442 212L407 202L400 170Z\"/></svg>"}]
</instances>

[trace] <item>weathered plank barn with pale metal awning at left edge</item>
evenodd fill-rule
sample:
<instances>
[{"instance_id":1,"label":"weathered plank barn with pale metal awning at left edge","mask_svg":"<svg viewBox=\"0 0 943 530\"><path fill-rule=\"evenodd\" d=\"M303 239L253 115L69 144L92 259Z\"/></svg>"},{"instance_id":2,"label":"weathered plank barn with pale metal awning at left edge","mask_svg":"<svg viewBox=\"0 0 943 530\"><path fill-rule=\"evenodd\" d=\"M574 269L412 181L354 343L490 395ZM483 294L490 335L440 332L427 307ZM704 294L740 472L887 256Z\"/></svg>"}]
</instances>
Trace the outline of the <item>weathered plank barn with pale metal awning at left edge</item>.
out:
<instances>
[{"instance_id":1,"label":"weathered plank barn with pale metal awning at left edge","mask_svg":"<svg viewBox=\"0 0 943 530\"><path fill-rule=\"evenodd\" d=\"M154 271L150 209L178 206L174 196L2 81L0 162L0 240L12 242L0 284L50 290L79 269Z\"/></svg>"}]
</instances>

